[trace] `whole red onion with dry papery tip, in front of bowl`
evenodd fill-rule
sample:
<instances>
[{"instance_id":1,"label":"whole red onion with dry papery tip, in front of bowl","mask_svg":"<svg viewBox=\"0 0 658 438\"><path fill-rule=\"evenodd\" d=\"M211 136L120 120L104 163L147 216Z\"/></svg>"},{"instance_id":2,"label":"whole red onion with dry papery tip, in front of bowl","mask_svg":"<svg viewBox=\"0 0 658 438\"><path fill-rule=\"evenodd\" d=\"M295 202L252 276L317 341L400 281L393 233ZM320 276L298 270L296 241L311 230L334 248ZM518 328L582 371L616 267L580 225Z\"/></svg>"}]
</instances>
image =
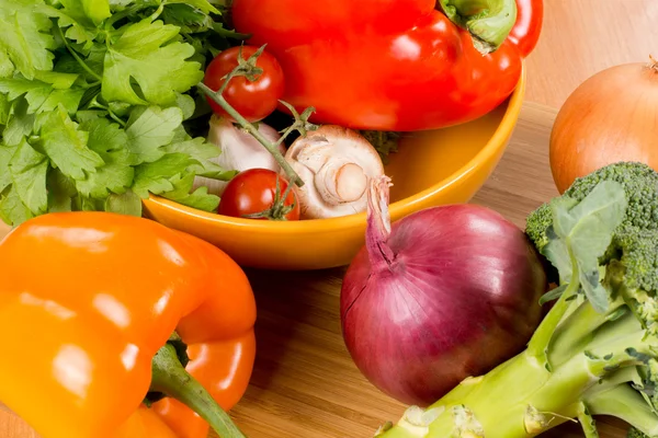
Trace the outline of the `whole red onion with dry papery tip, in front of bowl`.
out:
<instances>
[{"instance_id":1,"label":"whole red onion with dry papery tip, in front of bowl","mask_svg":"<svg viewBox=\"0 0 658 438\"><path fill-rule=\"evenodd\" d=\"M521 353L543 318L543 265L523 231L470 204L390 227L389 178L373 180L366 244L341 290L343 337L384 393L427 406Z\"/></svg>"}]
</instances>

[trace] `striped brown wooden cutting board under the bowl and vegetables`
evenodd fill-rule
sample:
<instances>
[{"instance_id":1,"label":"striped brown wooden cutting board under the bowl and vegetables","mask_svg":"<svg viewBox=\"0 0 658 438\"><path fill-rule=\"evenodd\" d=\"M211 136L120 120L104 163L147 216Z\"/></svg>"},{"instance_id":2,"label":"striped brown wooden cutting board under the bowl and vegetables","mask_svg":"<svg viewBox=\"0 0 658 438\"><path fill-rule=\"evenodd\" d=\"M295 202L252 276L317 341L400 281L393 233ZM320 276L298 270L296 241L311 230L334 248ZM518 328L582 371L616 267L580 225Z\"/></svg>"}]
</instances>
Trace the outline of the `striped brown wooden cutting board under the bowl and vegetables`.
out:
<instances>
[{"instance_id":1,"label":"striped brown wooden cutting board under the bowl and vegetables","mask_svg":"<svg viewBox=\"0 0 658 438\"><path fill-rule=\"evenodd\" d=\"M556 112L525 104L509 149L474 203L519 227L557 195L547 150ZM370 438L405 406L372 387L341 337L339 293L344 269L315 273L249 272L258 300L258 358L251 385L231 415L250 438ZM623 438L627 426L600 418L601 438ZM0 438L32 438L0 410ZM214 435L213 435L214 436ZM567 425L542 435L582 438Z\"/></svg>"}]
</instances>

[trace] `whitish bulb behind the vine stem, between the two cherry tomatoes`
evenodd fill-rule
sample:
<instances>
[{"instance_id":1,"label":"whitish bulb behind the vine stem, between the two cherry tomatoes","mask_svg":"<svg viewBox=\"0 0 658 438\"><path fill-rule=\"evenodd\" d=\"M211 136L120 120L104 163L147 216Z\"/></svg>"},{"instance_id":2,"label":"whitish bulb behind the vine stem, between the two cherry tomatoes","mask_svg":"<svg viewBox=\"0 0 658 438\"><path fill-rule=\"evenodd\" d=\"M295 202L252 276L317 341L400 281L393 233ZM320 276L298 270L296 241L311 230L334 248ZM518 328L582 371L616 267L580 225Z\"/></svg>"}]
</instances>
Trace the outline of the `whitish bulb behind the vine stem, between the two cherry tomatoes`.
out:
<instances>
[{"instance_id":1,"label":"whitish bulb behind the vine stem, between the two cherry tomatoes","mask_svg":"<svg viewBox=\"0 0 658 438\"><path fill-rule=\"evenodd\" d=\"M274 157L251 134L235 126L230 120L213 115L209 125L207 140L220 150L219 157L215 157L211 161L223 169L238 172L257 168L270 169L274 172L281 170ZM276 129L262 122L258 124L258 130L273 145L281 138ZM282 143L279 150L284 154L285 146ZM226 181L203 176L196 176L194 180L195 187L206 186L208 193L218 196L222 196L227 184Z\"/></svg>"}]
</instances>

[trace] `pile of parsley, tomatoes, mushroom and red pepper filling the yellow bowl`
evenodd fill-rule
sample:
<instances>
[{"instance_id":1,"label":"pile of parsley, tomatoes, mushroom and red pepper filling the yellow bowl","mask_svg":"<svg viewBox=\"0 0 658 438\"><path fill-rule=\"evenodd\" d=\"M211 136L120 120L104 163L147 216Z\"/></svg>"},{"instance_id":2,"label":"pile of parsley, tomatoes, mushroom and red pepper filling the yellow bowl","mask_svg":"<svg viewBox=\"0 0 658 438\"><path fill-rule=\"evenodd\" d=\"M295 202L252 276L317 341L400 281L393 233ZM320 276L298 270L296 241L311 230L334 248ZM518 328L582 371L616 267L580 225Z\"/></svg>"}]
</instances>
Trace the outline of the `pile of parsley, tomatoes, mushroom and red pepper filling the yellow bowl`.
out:
<instances>
[{"instance_id":1,"label":"pile of parsley, tomatoes, mushroom and red pepper filling the yellow bowl","mask_svg":"<svg viewBox=\"0 0 658 438\"><path fill-rule=\"evenodd\" d=\"M348 3L330 8L348 13ZM543 19L541 0L417 3L400 15L401 3L381 1L372 16L360 8L365 14L353 15L353 26L345 27L339 14L325 30L299 28L293 35L290 25L274 34L269 26L285 23L284 15L315 23L314 14L325 8L290 1L236 1L220 10L207 0L4 0L0 169L8 172L0 175L0 218L16 226L56 211L140 216L141 199L150 195L251 219L364 211L366 182L384 173L397 131L464 123L494 110L515 87ZM228 31L234 23L245 34ZM296 38L313 44L309 32L314 38L334 38L338 32L353 44L367 23L383 32L368 43L372 54L397 38L397 50L411 56L401 39L419 26L432 30L424 44L440 50L418 66L382 51L387 66L378 69L382 78L363 70L365 83L379 88L372 93L363 78L336 76L362 69L319 67L328 59L334 66L352 62L363 47L318 49L319 58L287 50ZM451 64L458 67L451 72L441 67ZM445 71L428 76L428 69ZM418 76L435 83L423 85ZM383 83L398 89L386 91ZM360 97L355 88L388 101ZM439 101L428 88L456 101ZM395 115L386 113L393 107ZM283 129L276 131L269 124L283 114ZM262 210L220 208L228 182L253 169L271 173L265 191L273 195ZM259 186L250 181L257 173L240 181ZM234 189L225 204L257 205L260 194ZM287 214L288 198L298 215Z\"/></svg>"}]
</instances>

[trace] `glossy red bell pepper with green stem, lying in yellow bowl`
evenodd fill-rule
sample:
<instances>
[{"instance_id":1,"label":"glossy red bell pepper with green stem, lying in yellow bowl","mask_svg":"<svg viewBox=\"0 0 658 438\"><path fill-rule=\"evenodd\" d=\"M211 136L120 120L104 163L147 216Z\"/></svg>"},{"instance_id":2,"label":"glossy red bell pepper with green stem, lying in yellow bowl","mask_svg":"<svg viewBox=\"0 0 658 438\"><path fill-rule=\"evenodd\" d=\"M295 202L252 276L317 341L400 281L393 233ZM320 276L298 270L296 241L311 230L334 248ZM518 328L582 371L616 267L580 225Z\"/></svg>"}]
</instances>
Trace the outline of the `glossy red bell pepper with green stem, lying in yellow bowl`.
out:
<instances>
[{"instance_id":1,"label":"glossy red bell pepper with green stem, lying in yellow bowl","mask_svg":"<svg viewBox=\"0 0 658 438\"><path fill-rule=\"evenodd\" d=\"M268 44L284 100L315 123L410 131L478 118L514 90L543 0L234 0L234 25Z\"/></svg>"}]
</instances>

